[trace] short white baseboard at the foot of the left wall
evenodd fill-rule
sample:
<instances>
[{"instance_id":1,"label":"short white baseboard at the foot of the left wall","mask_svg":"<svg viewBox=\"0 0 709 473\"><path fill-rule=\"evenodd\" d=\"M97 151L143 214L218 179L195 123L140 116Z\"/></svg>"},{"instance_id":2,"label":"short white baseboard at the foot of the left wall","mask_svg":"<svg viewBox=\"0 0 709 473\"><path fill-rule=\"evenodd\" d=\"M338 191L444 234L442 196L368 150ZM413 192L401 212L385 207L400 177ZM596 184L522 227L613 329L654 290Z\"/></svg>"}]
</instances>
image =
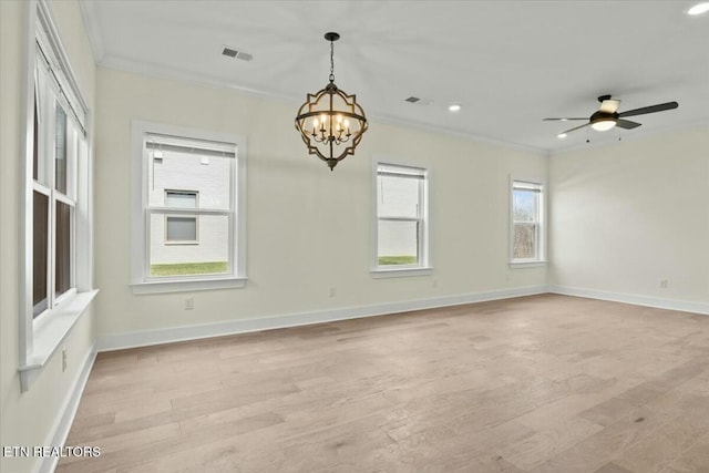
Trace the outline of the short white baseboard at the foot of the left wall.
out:
<instances>
[{"instance_id":1,"label":"short white baseboard at the foot of the left wall","mask_svg":"<svg viewBox=\"0 0 709 473\"><path fill-rule=\"evenodd\" d=\"M83 394L84 388L86 387L86 381L89 381L89 374L91 373L91 369L93 368L93 362L95 361L95 359L96 345L94 343L91 346L91 349L84 358L81 370L79 371L79 376L76 377L74 384L69 392L69 395L64 400L62 410L60 411L60 415L56 418L54 426L50 431L50 435L47 442L44 442L44 445L60 446L64 445L64 443L66 442L69 430L71 429L71 424L74 422L74 417L76 415L76 410L79 409L79 402L81 401L81 395ZM52 473L56 469L58 462L59 457L56 456L43 456L39 462L35 472Z\"/></svg>"}]
</instances>

